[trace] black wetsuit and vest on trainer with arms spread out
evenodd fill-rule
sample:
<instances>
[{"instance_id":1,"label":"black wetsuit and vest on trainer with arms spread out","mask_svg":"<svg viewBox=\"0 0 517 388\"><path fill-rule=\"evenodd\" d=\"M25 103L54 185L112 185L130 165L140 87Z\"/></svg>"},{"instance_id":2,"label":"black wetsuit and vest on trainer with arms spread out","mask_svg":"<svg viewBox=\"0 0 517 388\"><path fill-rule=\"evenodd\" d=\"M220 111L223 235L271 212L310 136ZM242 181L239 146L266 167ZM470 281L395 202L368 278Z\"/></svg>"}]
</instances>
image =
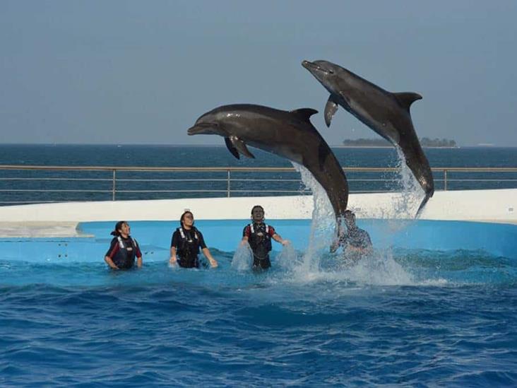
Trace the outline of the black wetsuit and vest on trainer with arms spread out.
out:
<instances>
[{"instance_id":1,"label":"black wetsuit and vest on trainer with arms spread out","mask_svg":"<svg viewBox=\"0 0 517 388\"><path fill-rule=\"evenodd\" d=\"M271 267L269 252L272 249L271 237L275 234L275 228L265 223L253 223L244 227L242 237L248 237L249 246L251 251L253 251L254 269L268 269Z\"/></svg>"}]
</instances>

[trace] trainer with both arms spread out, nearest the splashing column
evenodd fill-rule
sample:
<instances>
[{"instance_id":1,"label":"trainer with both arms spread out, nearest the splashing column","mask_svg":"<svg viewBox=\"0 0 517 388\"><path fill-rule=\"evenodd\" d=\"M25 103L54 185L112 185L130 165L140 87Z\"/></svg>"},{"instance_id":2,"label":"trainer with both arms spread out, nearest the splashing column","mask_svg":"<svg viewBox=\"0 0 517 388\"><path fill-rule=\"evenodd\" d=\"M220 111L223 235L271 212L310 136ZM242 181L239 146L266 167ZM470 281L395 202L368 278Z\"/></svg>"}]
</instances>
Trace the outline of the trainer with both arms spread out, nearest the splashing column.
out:
<instances>
[{"instance_id":1,"label":"trainer with both arms spread out, nearest the splashing column","mask_svg":"<svg viewBox=\"0 0 517 388\"><path fill-rule=\"evenodd\" d=\"M280 242L282 245L289 244L289 240L284 240L275 228L264 223L264 209L260 205L251 208L251 220L249 225L242 231L242 244L249 243L253 252L253 269L268 269L271 267L269 252L271 252L271 239Z\"/></svg>"}]
</instances>

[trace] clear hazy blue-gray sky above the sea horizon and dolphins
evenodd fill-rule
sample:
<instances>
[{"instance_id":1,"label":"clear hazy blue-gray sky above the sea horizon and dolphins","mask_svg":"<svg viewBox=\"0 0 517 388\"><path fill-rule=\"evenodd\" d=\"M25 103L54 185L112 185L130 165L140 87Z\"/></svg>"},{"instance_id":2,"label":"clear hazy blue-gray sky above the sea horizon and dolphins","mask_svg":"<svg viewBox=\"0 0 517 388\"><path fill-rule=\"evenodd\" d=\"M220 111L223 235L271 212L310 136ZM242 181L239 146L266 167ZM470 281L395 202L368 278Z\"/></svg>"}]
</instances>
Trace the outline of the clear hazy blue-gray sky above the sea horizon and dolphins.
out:
<instances>
[{"instance_id":1,"label":"clear hazy blue-gray sky above the sea horizon and dolphins","mask_svg":"<svg viewBox=\"0 0 517 388\"><path fill-rule=\"evenodd\" d=\"M415 91L420 137L517 146L517 1L0 1L1 143L222 144L203 112L314 107L375 138L300 65Z\"/></svg>"}]
</instances>

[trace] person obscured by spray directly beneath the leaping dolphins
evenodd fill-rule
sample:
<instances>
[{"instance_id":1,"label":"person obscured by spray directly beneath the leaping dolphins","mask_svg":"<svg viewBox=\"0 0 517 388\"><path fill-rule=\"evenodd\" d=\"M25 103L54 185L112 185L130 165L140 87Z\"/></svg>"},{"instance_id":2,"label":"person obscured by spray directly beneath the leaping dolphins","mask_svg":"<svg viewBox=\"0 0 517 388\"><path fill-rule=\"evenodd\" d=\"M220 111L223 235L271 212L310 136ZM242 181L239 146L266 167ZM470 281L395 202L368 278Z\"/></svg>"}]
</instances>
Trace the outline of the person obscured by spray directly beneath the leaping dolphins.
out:
<instances>
[{"instance_id":1,"label":"person obscured by spray directly beneath the leaping dolphins","mask_svg":"<svg viewBox=\"0 0 517 388\"><path fill-rule=\"evenodd\" d=\"M340 234L338 240L331 247L331 252L335 252L341 245L343 246L345 257L351 257L357 261L365 254L373 252L372 240L370 235L364 229L359 228L355 224L355 214L347 210L344 213L345 226L347 231Z\"/></svg>"}]
</instances>

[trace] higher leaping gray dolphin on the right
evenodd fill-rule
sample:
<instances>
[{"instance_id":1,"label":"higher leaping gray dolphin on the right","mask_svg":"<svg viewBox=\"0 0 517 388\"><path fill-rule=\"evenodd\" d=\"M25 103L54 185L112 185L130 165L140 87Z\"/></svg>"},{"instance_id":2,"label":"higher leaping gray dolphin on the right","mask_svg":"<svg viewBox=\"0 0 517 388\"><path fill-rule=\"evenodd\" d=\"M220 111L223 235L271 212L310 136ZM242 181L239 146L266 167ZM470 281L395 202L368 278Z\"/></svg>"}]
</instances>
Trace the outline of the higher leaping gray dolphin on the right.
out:
<instances>
[{"instance_id":1,"label":"higher leaping gray dolphin on the right","mask_svg":"<svg viewBox=\"0 0 517 388\"><path fill-rule=\"evenodd\" d=\"M352 71L328 61L303 61L302 66L331 93L325 106L325 123L330 127L338 105L399 147L413 175L417 178L425 197L417 216L434 194L434 180L420 141L413 127L410 106L420 100L417 93L390 93L379 86L353 74Z\"/></svg>"}]
</instances>

